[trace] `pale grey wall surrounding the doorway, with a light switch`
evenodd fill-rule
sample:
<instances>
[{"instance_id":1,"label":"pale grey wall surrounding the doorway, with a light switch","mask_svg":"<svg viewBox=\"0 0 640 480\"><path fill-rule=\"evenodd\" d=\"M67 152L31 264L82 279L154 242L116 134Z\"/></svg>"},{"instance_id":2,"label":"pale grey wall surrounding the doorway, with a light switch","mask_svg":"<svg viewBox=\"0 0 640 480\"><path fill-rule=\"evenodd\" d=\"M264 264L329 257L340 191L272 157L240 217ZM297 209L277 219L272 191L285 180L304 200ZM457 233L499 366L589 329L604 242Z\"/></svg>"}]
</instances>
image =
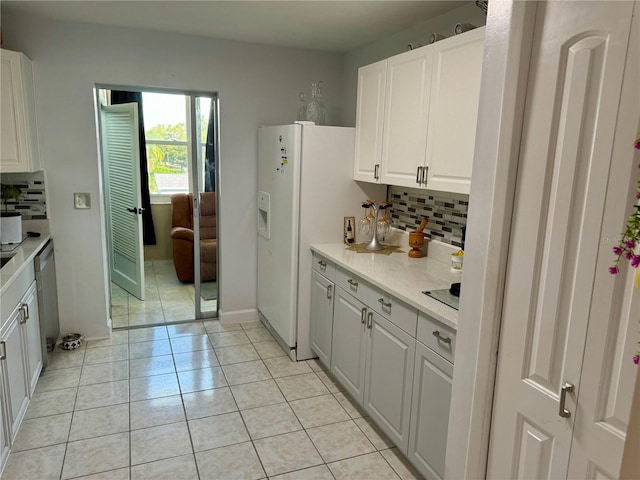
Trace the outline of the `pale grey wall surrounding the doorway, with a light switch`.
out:
<instances>
[{"instance_id":1,"label":"pale grey wall surrounding the doorway, with a light switch","mask_svg":"<svg viewBox=\"0 0 640 480\"><path fill-rule=\"evenodd\" d=\"M2 15L4 47L33 60L38 134L56 239L61 331L104 336L107 272L96 83L217 91L220 98L221 314L256 307L257 127L290 123L297 93L326 85L339 123L342 56L137 29ZM90 192L90 210L73 209Z\"/></svg>"}]
</instances>

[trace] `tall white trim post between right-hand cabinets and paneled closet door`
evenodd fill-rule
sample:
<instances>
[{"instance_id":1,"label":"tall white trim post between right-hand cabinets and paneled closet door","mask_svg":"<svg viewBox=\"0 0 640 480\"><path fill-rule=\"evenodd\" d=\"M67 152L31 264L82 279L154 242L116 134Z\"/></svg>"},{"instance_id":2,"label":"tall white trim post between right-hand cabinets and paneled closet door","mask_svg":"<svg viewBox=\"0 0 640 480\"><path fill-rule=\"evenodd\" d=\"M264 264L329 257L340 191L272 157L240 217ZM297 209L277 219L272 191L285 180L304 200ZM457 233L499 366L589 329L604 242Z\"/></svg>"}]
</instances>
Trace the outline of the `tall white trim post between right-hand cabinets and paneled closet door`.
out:
<instances>
[{"instance_id":1,"label":"tall white trim post between right-hand cabinets and paneled closet door","mask_svg":"<svg viewBox=\"0 0 640 480\"><path fill-rule=\"evenodd\" d=\"M487 15L445 477L484 478L536 2Z\"/></svg>"}]
</instances>

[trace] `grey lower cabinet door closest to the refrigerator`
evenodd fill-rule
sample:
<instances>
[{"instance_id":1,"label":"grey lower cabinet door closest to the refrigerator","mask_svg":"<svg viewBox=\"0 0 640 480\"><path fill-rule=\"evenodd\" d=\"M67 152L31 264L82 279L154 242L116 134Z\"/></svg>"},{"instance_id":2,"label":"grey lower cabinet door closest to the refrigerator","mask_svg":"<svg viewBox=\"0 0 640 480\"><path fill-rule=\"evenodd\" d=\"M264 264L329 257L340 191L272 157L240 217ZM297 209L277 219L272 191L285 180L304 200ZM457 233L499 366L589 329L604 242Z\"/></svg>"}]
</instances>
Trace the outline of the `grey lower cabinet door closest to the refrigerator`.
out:
<instances>
[{"instance_id":1,"label":"grey lower cabinet door closest to the refrigerator","mask_svg":"<svg viewBox=\"0 0 640 480\"><path fill-rule=\"evenodd\" d=\"M334 284L317 272L311 277L311 349L320 361L331 365Z\"/></svg>"}]
</instances>

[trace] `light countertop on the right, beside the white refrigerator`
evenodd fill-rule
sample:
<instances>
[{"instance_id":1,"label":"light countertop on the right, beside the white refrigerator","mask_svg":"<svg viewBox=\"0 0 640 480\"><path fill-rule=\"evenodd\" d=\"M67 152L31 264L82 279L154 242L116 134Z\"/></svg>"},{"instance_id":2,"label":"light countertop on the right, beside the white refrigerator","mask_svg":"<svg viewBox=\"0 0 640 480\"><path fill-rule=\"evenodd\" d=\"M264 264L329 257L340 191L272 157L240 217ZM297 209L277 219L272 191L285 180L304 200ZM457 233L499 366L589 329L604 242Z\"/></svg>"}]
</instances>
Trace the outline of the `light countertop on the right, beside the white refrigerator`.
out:
<instances>
[{"instance_id":1,"label":"light countertop on the right, beside the white refrigerator","mask_svg":"<svg viewBox=\"0 0 640 480\"><path fill-rule=\"evenodd\" d=\"M357 253L347 250L342 243L311 245L311 250L445 325L456 328L458 311L422 293L423 290L449 288L452 272L446 263L427 257L409 258L408 248L390 255Z\"/></svg>"}]
</instances>

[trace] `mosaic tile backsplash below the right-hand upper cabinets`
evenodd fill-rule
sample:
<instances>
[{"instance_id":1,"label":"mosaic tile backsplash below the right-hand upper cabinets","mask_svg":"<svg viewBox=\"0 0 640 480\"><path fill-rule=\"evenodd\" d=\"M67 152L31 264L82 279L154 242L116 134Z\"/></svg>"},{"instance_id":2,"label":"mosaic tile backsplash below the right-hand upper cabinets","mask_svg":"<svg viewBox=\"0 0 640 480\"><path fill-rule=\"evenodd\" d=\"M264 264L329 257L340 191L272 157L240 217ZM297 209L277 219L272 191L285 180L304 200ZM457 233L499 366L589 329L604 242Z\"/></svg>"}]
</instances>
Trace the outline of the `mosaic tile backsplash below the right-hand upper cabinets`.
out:
<instances>
[{"instance_id":1,"label":"mosaic tile backsplash below the right-hand upper cabinets","mask_svg":"<svg viewBox=\"0 0 640 480\"><path fill-rule=\"evenodd\" d=\"M462 247L462 227L467 224L469 196L456 193L389 187L391 220L400 230L415 231L422 217L429 223L427 238Z\"/></svg>"}]
</instances>

